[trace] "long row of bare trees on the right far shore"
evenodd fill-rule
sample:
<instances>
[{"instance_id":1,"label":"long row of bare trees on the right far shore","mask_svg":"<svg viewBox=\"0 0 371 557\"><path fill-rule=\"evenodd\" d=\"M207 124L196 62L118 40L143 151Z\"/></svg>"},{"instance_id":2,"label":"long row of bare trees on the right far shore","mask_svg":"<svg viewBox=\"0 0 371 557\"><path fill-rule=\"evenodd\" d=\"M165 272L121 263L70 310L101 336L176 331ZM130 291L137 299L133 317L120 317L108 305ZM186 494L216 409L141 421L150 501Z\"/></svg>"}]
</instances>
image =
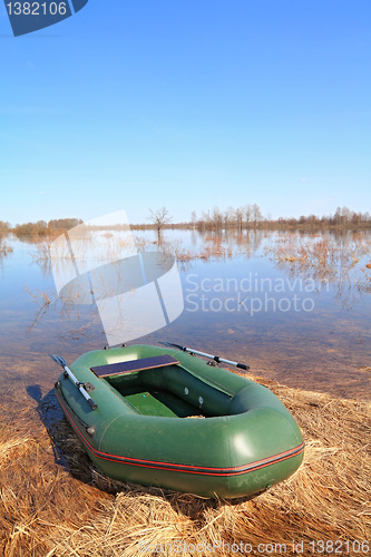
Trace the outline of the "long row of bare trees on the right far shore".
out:
<instances>
[{"instance_id":1,"label":"long row of bare trees on the right far shore","mask_svg":"<svg viewBox=\"0 0 371 557\"><path fill-rule=\"evenodd\" d=\"M264 216L258 205L245 205L244 207L228 207L222 212L218 207L204 212L197 218L196 212L192 213L191 224L198 229L223 229L236 228L237 231L251 228L365 228L371 227L371 215L369 212L357 213L348 207L338 207L334 215L315 216L302 215L299 218L272 218Z\"/></svg>"}]
</instances>

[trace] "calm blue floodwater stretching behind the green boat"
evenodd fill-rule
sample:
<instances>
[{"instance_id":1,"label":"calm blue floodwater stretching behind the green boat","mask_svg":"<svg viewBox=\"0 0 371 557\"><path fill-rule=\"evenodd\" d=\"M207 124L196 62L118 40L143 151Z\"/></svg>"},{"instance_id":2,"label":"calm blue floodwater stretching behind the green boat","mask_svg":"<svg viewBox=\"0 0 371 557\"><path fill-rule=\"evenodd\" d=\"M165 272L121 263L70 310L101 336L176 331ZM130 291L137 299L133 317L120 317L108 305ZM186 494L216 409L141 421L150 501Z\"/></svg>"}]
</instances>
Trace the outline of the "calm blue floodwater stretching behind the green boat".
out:
<instances>
[{"instance_id":1,"label":"calm blue floodwater stretching behind the green boat","mask_svg":"<svg viewBox=\"0 0 371 557\"><path fill-rule=\"evenodd\" d=\"M143 250L157 248L154 232L134 234ZM71 363L106 338L95 306L58 299L42 243L4 242L1 389L21 382L46 393L59 374L48 353ZM185 309L138 342L173 341L290 387L371 399L370 234L166 231L162 248L179 258Z\"/></svg>"}]
</instances>

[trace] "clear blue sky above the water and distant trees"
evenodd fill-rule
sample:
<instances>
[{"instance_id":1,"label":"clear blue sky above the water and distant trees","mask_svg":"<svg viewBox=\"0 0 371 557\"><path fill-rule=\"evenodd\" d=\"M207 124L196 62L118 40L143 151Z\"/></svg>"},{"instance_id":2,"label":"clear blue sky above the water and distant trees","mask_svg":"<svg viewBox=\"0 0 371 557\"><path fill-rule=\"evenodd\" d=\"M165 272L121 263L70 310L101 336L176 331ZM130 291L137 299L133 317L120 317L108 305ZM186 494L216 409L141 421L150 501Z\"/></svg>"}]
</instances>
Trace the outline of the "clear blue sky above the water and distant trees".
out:
<instances>
[{"instance_id":1,"label":"clear blue sky above the water and distant trees","mask_svg":"<svg viewBox=\"0 0 371 557\"><path fill-rule=\"evenodd\" d=\"M12 37L0 219L371 212L369 0L89 0Z\"/></svg>"}]
</instances>

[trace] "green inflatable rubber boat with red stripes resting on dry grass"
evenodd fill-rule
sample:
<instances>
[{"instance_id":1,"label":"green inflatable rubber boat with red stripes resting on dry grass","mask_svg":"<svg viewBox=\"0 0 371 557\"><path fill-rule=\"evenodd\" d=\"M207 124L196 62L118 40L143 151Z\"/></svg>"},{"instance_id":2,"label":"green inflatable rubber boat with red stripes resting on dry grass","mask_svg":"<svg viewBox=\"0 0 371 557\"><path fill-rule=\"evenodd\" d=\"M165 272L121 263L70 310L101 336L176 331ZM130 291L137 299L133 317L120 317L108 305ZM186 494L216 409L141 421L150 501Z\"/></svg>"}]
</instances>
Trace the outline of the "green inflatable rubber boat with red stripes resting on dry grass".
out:
<instances>
[{"instance_id":1,"label":"green inflatable rubber boat with red stripes resting on dry grass","mask_svg":"<svg viewBox=\"0 0 371 557\"><path fill-rule=\"evenodd\" d=\"M303 459L301 431L269 389L195 355L131 345L58 363L58 401L111 478L235 498L289 478Z\"/></svg>"}]
</instances>

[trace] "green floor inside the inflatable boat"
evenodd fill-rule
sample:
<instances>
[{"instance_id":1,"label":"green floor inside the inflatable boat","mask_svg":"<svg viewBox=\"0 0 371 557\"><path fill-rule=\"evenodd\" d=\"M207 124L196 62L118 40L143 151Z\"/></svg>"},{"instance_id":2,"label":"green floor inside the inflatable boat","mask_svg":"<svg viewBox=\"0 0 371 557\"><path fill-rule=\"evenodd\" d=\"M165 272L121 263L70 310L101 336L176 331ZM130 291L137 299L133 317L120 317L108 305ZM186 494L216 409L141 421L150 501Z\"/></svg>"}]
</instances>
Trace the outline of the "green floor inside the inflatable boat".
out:
<instances>
[{"instance_id":1,"label":"green floor inside the inflatable boat","mask_svg":"<svg viewBox=\"0 0 371 557\"><path fill-rule=\"evenodd\" d=\"M164 418L204 417L199 409L167 391L125 389L119 392L138 413L144 416L162 416Z\"/></svg>"}]
</instances>

